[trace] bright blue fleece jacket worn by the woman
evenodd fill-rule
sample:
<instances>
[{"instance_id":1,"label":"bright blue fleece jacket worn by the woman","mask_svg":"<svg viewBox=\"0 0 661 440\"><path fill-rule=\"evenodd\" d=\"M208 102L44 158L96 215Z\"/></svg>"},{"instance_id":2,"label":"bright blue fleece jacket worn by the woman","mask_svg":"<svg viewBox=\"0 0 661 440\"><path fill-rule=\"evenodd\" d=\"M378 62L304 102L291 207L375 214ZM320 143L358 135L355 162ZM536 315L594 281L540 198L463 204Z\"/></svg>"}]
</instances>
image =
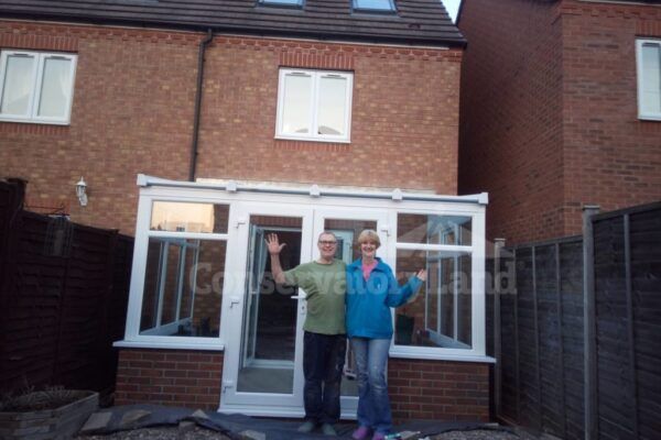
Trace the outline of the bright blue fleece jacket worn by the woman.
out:
<instances>
[{"instance_id":1,"label":"bright blue fleece jacket worn by the woman","mask_svg":"<svg viewBox=\"0 0 661 440\"><path fill-rule=\"evenodd\" d=\"M390 266L377 257L369 278L362 277L362 260L347 266L347 336L371 339L392 338L390 307L399 307L420 289L422 280L413 276L402 287Z\"/></svg>"}]
</instances>

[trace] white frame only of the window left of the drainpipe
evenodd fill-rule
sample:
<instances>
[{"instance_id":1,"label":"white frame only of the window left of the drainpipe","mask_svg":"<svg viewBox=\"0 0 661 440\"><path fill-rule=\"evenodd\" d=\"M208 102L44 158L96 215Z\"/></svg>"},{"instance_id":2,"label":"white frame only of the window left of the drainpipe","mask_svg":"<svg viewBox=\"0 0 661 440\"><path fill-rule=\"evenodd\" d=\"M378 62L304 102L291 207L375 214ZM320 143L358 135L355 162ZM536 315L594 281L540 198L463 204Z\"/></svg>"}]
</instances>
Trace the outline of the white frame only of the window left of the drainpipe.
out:
<instances>
[{"instance_id":1,"label":"white frame only of the window left of the drainpipe","mask_svg":"<svg viewBox=\"0 0 661 440\"><path fill-rule=\"evenodd\" d=\"M28 105L28 112L25 114L2 114L0 113L0 121L10 122L28 122L28 123L50 123L58 125L68 125L72 116L72 103L74 101L74 84L76 80L76 63L77 55L55 53L55 52L33 52L33 51L2 51L0 55L0 100L4 96L4 82L7 74L7 62L10 56L29 56L34 57L35 63L32 70L32 89L30 94L30 102ZM66 110L63 118L54 117L40 117L37 116L39 102L41 100L41 89L44 76L45 62L48 58L56 59L68 59L69 63L69 84L68 84L68 97L64 103ZM0 102L1 105L1 102Z\"/></svg>"}]
</instances>

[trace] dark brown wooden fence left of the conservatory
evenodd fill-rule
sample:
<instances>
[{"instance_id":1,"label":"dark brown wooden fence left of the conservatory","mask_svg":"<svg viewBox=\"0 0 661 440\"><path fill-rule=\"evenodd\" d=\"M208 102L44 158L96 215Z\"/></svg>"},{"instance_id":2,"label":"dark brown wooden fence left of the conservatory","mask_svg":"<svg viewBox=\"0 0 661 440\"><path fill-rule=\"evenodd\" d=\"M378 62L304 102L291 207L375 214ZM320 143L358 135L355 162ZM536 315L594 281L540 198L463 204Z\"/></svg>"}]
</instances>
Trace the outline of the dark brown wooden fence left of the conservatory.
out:
<instances>
[{"instance_id":1,"label":"dark brown wooden fence left of the conservatory","mask_svg":"<svg viewBox=\"0 0 661 440\"><path fill-rule=\"evenodd\" d=\"M113 387L133 239L22 209L0 182L0 391Z\"/></svg>"}]
</instances>

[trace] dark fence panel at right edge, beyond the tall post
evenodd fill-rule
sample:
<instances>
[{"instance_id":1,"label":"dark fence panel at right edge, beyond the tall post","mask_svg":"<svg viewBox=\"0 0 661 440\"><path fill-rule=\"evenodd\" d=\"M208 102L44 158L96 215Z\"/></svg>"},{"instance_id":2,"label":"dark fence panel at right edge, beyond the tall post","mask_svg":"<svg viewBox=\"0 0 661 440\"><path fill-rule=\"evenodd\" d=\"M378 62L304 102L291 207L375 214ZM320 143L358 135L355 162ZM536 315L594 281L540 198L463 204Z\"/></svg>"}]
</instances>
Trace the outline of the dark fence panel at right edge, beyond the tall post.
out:
<instances>
[{"instance_id":1,"label":"dark fence panel at right edge, beyond the tall post","mask_svg":"<svg viewBox=\"0 0 661 440\"><path fill-rule=\"evenodd\" d=\"M593 218L599 439L661 436L661 204Z\"/></svg>"}]
</instances>

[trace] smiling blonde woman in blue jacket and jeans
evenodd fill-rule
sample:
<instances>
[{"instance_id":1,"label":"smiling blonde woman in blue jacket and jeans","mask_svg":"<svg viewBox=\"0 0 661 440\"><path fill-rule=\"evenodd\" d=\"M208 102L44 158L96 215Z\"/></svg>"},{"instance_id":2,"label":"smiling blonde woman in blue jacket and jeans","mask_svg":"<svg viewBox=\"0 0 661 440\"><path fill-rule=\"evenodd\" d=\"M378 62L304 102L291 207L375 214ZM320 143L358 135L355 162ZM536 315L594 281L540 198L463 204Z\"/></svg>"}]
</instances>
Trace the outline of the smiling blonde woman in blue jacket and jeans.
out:
<instances>
[{"instance_id":1,"label":"smiling blonde woman in blue jacket and jeans","mask_svg":"<svg viewBox=\"0 0 661 440\"><path fill-rule=\"evenodd\" d=\"M358 235L362 256L347 266L347 337L358 370L358 429L355 440L382 440L392 428L386 367L392 339L390 307L399 307L420 289L426 278L421 270L399 287L392 270L377 257L381 245L376 231Z\"/></svg>"}]
</instances>

